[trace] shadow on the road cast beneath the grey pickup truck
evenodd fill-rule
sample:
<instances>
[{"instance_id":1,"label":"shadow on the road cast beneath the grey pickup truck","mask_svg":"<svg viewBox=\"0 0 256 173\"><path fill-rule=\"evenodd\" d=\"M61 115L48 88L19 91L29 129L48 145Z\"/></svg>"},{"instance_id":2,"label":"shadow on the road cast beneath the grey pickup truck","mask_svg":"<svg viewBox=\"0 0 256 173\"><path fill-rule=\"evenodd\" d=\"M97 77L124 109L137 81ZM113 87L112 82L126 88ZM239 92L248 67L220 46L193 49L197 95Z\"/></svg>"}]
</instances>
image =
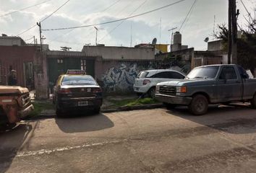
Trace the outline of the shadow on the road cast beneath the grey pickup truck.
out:
<instances>
[{"instance_id":1,"label":"shadow on the road cast beneath the grey pickup truck","mask_svg":"<svg viewBox=\"0 0 256 173\"><path fill-rule=\"evenodd\" d=\"M201 116L190 114L187 107L177 107L167 112L226 133L256 132L256 110L252 110L248 105L212 106L206 115Z\"/></svg>"}]
</instances>

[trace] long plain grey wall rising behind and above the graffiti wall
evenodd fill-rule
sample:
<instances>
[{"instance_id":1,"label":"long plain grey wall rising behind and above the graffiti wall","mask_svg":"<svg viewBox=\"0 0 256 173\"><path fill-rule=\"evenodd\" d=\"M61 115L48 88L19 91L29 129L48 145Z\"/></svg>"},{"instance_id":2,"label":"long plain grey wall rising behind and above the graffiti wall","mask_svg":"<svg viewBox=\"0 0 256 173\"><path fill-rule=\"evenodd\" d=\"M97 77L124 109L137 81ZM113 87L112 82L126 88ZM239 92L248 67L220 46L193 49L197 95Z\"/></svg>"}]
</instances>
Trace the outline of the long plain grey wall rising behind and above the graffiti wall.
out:
<instances>
[{"instance_id":1,"label":"long plain grey wall rising behind and above the graffiti wall","mask_svg":"<svg viewBox=\"0 0 256 173\"><path fill-rule=\"evenodd\" d=\"M101 56L103 60L154 60L154 48L84 46L86 56Z\"/></svg>"}]
</instances>

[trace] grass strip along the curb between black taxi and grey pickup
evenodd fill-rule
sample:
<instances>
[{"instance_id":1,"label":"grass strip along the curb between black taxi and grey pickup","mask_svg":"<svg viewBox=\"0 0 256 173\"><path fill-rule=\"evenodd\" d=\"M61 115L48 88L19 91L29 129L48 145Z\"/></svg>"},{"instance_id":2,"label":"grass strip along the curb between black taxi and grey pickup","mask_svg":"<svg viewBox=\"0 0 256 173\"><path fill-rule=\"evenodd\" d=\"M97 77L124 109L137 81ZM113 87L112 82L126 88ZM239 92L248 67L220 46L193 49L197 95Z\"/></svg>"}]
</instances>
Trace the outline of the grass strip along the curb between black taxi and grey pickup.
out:
<instances>
[{"instance_id":1,"label":"grass strip along the curb between black taxi and grey pickup","mask_svg":"<svg viewBox=\"0 0 256 173\"><path fill-rule=\"evenodd\" d=\"M149 105L159 103L155 99L152 98L143 98L143 99L124 99L124 100L111 100L116 107L121 106L135 106L135 105Z\"/></svg>"}]
</instances>

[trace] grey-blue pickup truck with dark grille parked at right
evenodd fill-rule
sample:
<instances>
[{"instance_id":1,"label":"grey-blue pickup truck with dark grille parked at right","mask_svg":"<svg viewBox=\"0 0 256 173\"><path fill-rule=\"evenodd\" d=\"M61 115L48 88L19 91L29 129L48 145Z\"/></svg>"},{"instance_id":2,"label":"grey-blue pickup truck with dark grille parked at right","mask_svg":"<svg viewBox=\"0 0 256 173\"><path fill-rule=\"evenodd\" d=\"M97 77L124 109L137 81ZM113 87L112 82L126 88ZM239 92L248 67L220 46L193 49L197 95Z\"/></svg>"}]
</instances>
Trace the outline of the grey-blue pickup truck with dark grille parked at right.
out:
<instances>
[{"instance_id":1,"label":"grey-blue pickup truck with dark grille parked at right","mask_svg":"<svg viewBox=\"0 0 256 173\"><path fill-rule=\"evenodd\" d=\"M203 115L209 104L251 102L256 108L256 79L234 64L194 68L186 79L156 85L155 99L167 107L188 105L193 115Z\"/></svg>"}]
</instances>

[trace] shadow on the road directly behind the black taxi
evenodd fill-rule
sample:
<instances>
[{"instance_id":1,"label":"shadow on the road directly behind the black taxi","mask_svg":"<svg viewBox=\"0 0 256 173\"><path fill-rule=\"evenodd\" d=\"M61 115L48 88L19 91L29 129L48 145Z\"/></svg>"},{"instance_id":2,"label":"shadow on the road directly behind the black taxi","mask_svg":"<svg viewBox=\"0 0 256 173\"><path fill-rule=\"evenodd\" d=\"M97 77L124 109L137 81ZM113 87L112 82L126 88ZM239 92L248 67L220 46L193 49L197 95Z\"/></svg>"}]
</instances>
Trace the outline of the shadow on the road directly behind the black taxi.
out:
<instances>
[{"instance_id":1,"label":"shadow on the road directly behind the black taxi","mask_svg":"<svg viewBox=\"0 0 256 173\"><path fill-rule=\"evenodd\" d=\"M56 117L55 121L65 133L90 132L114 127L114 123L101 113L70 114L61 118Z\"/></svg>"}]
</instances>

